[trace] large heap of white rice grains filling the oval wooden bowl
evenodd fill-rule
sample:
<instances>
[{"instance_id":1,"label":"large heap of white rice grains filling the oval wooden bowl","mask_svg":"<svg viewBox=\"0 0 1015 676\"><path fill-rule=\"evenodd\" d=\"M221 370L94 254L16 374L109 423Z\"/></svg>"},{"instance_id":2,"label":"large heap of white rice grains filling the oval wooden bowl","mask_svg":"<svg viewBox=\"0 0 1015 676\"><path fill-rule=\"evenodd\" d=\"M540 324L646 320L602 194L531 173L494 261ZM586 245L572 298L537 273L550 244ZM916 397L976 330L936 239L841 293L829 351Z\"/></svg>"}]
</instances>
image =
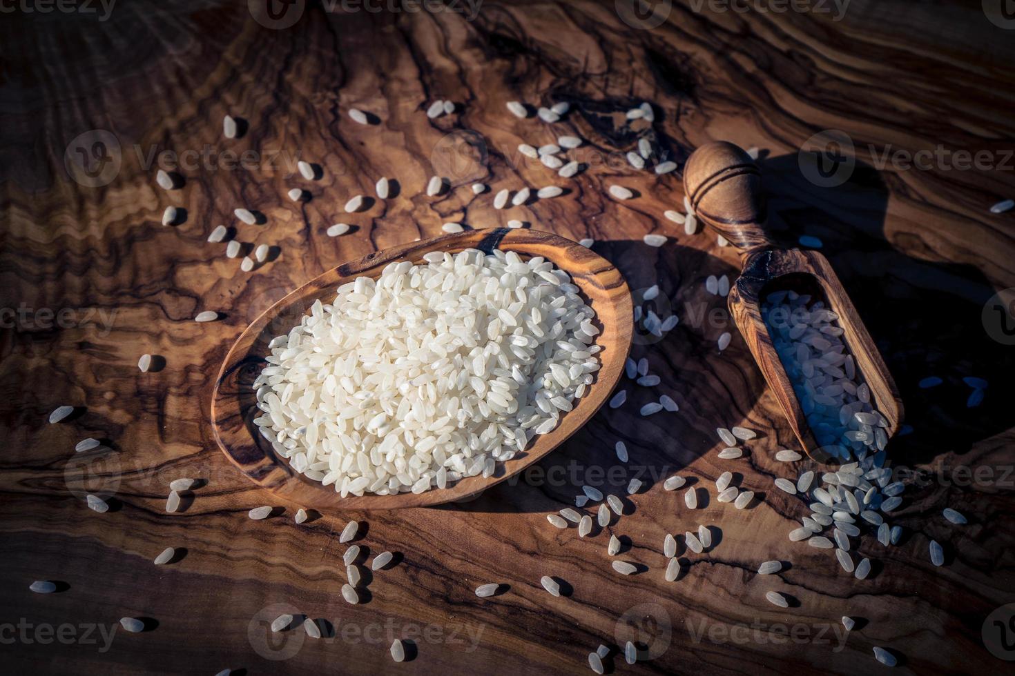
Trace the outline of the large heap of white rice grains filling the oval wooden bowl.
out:
<instances>
[{"instance_id":1,"label":"large heap of white rice grains filling the oval wooden bowl","mask_svg":"<svg viewBox=\"0 0 1015 676\"><path fill-rule=\"evenodd\" d=\"M255 419L343 497L490 476L556 428L600 363L567 274L513 251L430 252L338 288L271 341Z\"/></svg>"}]
</instances>

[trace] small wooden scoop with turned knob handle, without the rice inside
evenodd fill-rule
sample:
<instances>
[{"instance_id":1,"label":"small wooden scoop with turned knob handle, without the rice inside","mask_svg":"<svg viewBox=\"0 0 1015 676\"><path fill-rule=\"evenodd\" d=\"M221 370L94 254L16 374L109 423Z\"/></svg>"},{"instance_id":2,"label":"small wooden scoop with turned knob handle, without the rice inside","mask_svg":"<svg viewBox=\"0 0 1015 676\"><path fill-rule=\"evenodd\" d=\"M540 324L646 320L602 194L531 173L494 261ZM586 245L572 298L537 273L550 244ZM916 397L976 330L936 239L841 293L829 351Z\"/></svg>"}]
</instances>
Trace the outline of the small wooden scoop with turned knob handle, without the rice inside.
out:
<instances>
[{"instance_id":1,"label":"small wooden scoop with turned knob handle, without the rice inside","mask_svg":"<svg viewBox=\"0 0 1015 676\"><path fill-rule=\"evenodd\" d=\"M687 160L684 190L698 220L740 249L742 272L730 290L730 312L807 454L821 462L834 455L819 446L762 319L762 299L774 291L810 294L838 314L858 384L862 380L870 387L872 405L888 421L885 432L894 435L902 401L891 374L828 260L817 251L776 249L765 235L761 174L754 160L732 143L703 145Z\"/></svg>"}]
</instances>

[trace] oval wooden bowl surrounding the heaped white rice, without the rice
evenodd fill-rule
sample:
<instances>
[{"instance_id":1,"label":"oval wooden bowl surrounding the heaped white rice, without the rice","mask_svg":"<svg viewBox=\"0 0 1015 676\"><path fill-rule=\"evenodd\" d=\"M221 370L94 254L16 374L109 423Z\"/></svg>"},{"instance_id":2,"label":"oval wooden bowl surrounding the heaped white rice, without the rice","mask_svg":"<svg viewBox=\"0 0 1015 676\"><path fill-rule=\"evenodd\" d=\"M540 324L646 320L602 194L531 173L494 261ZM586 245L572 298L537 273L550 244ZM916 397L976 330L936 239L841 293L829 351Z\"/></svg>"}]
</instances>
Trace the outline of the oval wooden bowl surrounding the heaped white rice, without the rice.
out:
<instances>
[{"instance_id":1,"label":"oval wooden bowl surrounding the heaped white rice, without the rice","mask_svg":"<svg viewBox=\"0 0 1015 676\"><path fill-rule=\"evenodd\" d=\"M341 498L335 486L326 486L292 469L288 460L275 453L253 423L262 411L257 408L252 384L265 365L264 358L271 354L268 350L271 339L288 333L316 300L331 302L336 289L353 278L366 276L377 279L391 262L421 262L423 254L429 251L455 253L467 248L486 252L500 248L515 251L523 258L543 256L570 275L582 290L586 302L596 311L595 323L601 331L596 336L596 345L603 348L599 353L602 367L585 395L574 402L574 408L561 418L555 430L535 437L525 452L506 462L497 462L496 472L489 478L471 476L444 490L430 489L418 495L367 494L360 498ZM468 230L410 242L330 270L288 294L255 319L236 339L218 373L211 401L212 430L225 456L255 483L302 507L380 510L464 500L536 462L574 434L599 410L623 373L624 360L630 349L632 324L630 292L617 269L591 249L563 237L537 230L497 228Z\"/></svg>"}]
</instances>

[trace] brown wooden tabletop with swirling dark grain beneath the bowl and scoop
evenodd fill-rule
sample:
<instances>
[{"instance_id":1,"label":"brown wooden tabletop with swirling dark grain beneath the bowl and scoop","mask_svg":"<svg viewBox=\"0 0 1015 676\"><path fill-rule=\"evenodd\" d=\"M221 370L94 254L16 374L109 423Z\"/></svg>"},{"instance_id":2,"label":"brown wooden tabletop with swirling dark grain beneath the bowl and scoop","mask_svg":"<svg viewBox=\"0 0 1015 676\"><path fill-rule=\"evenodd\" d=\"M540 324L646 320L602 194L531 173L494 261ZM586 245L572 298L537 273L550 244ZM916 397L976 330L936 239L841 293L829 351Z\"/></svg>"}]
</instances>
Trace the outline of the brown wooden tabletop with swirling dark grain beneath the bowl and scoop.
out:
<instances>
[{"instance_id":1,"label":"brown wooden tabletop with swirling dark grain beneath the bowl and scoop","mask_svg":"<svg viewBox=\"0 0 1015 676\"><path fill-rule=\"evenodd\" d=\"M895 651L903 673L1004 670L982 628L1015 601L1015 414L1005 390L1015 357L985 330L982 315L996 290L1015 286L1015 217L988 211L1015 196L1004 159L1015 138L1011 31L986 20L976 2L854 0L839 20L673 3L665 21L645 29L620 18L616 4L488 1L466 20L455 12L327 11L315 2L281 29L258 23L239 0L118 3L105 21L60 11L4 14L0 623L108 626L125 615L157 622L140 634L117 633L105 652L83 641L43 644L32 633L31 643L0 647L5 669L586 674L600 643L617 650L633 637L654 658L627 667L614 653L607 662L615 673L866 673L877 667L874 646ZM456 101L457 111L428 120L437 98ZM509 100L567 100L572 110L546 125L514 118ZM655 122L628 124L626 110L646 100ZM352 122L353 106L379 124ZM248 123L242 138L222 138L226 112ZM858 158L835 186L814 184L800 166L801 148L826 129L845 133ZM94 130L115 145L96 145ZM588 140L574 156L589 167L570 180L517 152L520 143L538 146L562 133ZM679 208L683 184L679 172L629 168L623 155L642 137L680 163L717 139L760 148L772 240L784 248L801 234L824 241L822 252L895 376L913 430L891 445L893 466L910 486L890 521L906 535L889 548L863 539L857 553L878 561L868 580L787 540L806 508L771 481L811 465L774 461L776 449L795 444L792 430L736 332L717 352L716 339L732 322L722 299L703 289L708 275L738 274L737 254L663 217ZM883 163L886 152L938 146L985 151L992 161ZM100 166L116 164L100 160L119 157L119 170L101 184L77 182L65 166L68 148L78 161L79 150L95 151L88 166L98 182L107 178ZM188 153L188 161L160 158L163 151ZM300 158L321 165L319 180L299 177ZM183 186L158 189L157 166L178 170ZM453 190L427 198L436 173ZM397 197L342 212L351 196L374 195L382 175L398 180ZM474 180L491 191L473 195ZM609 198L614 183L637 197ZM500 189L545 184L569 193L492 208ZM288 201L292 186L312 199ZM187 210L186 222L159 224L170 205ZM236 207L260 210L265 223L236 223ZM445 221L495 227L510 218L576 241L595 238L593 250L616 266L639 302L645 289L660 286L656 311L675 311L680 323L663 340L638 330L632 357L647 358L664 384L623 381L624 406L600 411L519 480L472 502L323 515L297 527L298 505L272 500L216 448L211 392L229 346L285 293L342 261L437 235ZM325 236L340 220L356 229ZM277 247L273 259L242 273L224 245L205 241L219 223L249 247ZM645 246L650 232L668 243ZM201 310L225 316L195 323ZM140 373L144 353L164 366ZM929 375L943 384L920 388ZM966 376L991 382L979 406L965 405ZM664 391L679 412L637 415ZM63 403L83 410L47 425ZM721 461L715 429L732 425L760 436L744 458ZM114 451L75 454L86 436L108 439ZM617 440L631 461L611 476ZM704 490L725 470L758 493L751 509L720 505L710 491L689 512L679 493L661 485L679 472L704 503ZM646 485L606 529L625 538L619 557L648 569L625 578L610 569L608 532L579 538L574 529L550 527L545 515L572 504L584 483L621 495L635 475ZM179 476L206 483L184 511L165 514L168 482ZM114 508L87 510L87 490L111 495ZM247 511L263 504L282 513L249 520ZM944 521L946 506L969 525ZM370 558L400 555L373 574L358 606L339 595L337 533L348 519L363 523L357 543ZM686 571L665 583L665 534L699 523L721 531L717 543L702 555L681 551ZM928 557L932 538L947 552L940 569ZM153 566L165 546L186 552ZM756 576L771 558L792 567ZM546 594L542 575L565 582L569 596ZM31 594L37 579L65 589ZM473 589L488 582L506 588L477 599ZM764 593L772 589L799 605L770 605ZM281 607L329 619L336 636L271 636L267 622ZM833 629L844 614L864 622L839 650ZM745 634L736 628L744 625L761 628ZM793 627L808 637L784 642ZM418 654L396 668L388 639L411 629Z\"/></svg>"}]
</instances>

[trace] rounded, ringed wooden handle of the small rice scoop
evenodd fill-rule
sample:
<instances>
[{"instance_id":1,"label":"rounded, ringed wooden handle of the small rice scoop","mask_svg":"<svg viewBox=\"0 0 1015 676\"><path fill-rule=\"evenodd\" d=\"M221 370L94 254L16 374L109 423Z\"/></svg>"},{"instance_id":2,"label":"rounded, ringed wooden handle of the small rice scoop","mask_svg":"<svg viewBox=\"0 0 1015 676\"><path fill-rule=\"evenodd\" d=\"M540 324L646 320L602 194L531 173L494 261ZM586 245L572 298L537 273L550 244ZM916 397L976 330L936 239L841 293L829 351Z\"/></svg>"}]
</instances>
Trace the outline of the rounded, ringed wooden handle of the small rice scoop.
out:
<instances>
[{"instance_id":1,"label":"rounded, ringed wooden handle of the small rice scoop","mask_svg":"<svg viewBox=\"0 0 1015 676\"><path fill-rule=\"evenodd\" d=\"M740 249L742 257L773 246L763 227L761 172L739 146L713 141L691 153L684 191L697 219Z\"/></svg>"}]
</instances>

